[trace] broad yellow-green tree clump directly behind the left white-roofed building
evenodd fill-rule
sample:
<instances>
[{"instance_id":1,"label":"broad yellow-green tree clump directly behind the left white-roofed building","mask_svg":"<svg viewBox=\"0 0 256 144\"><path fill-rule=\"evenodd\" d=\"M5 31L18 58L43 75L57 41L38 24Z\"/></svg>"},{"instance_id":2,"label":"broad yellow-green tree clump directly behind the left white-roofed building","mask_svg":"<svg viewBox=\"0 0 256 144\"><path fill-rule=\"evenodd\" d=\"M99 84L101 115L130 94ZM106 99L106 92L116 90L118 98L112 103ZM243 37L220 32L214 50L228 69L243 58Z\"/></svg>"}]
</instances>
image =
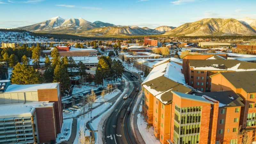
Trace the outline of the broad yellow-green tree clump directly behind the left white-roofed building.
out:
<instances>
[{"instance_id":1,"label":"broad yellow-green tree clump directly behind the left white-roofed building","mask_svg":"<svg viewBox=\"0 0 256 144\"><path fill-rule=\"evenodd\" d=\"M43 77L33 67L27 67L25 64L18 63L14 66L11 75L12 84L40 84L43 83Z\"/></svg>"}]
</instances>

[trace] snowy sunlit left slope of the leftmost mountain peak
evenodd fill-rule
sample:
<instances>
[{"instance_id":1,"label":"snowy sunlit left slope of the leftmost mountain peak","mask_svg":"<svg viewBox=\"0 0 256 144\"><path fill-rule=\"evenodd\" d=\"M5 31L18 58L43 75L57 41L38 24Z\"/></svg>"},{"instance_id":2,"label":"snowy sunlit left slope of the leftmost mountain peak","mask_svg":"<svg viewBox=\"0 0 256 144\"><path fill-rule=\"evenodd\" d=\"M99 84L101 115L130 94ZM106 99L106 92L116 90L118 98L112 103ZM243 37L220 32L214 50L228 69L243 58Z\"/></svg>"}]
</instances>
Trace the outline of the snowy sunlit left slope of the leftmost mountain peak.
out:
<instances>
[{"instance_id":1,"label":"snowy sunlit left slope of the leftmost mountain peak","mask_svg":"<svg viewBox=\"0 0 256 144\"><path fill-rule=\"evenodd\" d=\"M28 31L37 31L37 30L44 30L44 29L51 29L51 28L56 28L60 26L65 20L62 19L61 17L57 16L54 18L51 18L50 20L45 20L43 22L30 25L30 26L25 26L25 27L19 27L17 29L24 29Z\"/></svg>"}]
</instances>

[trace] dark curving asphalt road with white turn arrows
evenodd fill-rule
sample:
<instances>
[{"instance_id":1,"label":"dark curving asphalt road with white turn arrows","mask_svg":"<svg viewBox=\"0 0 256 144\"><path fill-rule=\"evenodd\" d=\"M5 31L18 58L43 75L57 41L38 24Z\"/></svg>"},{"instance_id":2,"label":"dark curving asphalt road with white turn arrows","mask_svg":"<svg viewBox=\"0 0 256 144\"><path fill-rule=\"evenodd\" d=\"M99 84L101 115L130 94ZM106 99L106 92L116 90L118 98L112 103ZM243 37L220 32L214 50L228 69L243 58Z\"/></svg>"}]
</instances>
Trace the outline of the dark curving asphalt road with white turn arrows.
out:
<instances>
[{"instance_id":1,"label":"dark curving asphalt road with white turn arrows","mask_svg":"<svg viewBox=\"0 0 256 144\"><path fill-rule=\"evenodd\" d=\"M115 111L109 116L105 127L105 140L107 144L136 144L135 137L133 136L130 118L131 110L135 104L140 83L138 78L131 72L125 71L124 77L130 81L130 86L127 87L129 91L128 98L122 99L116 106ZM127 111L129 109L130 111Z\"/></svg>"}]
</instances>

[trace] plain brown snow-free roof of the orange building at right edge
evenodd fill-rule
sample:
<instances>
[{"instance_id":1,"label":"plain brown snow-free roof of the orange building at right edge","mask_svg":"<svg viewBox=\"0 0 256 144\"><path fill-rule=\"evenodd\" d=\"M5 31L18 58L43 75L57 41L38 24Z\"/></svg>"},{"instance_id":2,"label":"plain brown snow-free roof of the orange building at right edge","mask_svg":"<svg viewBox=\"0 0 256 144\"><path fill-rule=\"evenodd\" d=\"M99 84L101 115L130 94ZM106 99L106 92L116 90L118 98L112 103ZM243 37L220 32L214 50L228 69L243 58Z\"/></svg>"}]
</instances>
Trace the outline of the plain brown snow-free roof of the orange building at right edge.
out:
<instances>
[{"instance_id":1,"label":"plain brown snow-free roof of the orange building at right edge","mask_svg":"<svg viewBox=\"0 0 256 144\"><path fill-rule=\"evenodd\" d=\"M256 92L256 71L221 72L236 88L242 88L246 92Z\"/></svg>"}]
</instances>

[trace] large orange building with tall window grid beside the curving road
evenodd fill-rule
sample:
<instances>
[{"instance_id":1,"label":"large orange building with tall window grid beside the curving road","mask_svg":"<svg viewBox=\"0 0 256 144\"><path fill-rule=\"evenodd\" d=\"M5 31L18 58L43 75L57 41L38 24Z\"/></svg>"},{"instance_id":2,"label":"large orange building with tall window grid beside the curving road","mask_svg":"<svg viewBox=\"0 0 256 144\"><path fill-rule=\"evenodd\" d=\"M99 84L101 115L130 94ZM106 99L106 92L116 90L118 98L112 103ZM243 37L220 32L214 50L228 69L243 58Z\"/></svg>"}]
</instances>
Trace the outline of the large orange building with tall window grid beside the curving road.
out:
<instances>
[{"instance_id":1,"label":"large orange building with tall window grid beside the curving road","mask_svg":"<svg viewBox=\"0 0 256 144\"><path fill-rule=\"evenodd\" d=\"M162 144L236 144L243 98L230 89L199 92L186 85L181 69L163 60L141 84L142 114L156 139Z\"/></svg>"}]
</instances>

